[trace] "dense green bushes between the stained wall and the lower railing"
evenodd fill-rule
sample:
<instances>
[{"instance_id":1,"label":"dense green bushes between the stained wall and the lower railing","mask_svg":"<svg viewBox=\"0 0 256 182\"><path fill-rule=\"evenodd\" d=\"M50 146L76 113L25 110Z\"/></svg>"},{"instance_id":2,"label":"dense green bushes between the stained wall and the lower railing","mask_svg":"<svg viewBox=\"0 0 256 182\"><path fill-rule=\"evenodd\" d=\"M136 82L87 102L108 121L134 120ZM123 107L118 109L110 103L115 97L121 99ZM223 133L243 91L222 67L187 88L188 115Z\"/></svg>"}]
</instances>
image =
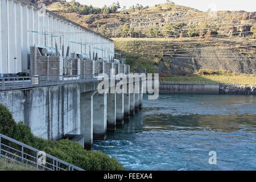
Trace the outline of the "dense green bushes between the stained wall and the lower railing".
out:
<instances>
[{"instance_id":1,"label":"dense green bushes between the stained wall and the lower railing","mask_svg":"<svg viewBox=\"0 0 256 182\"><path fill-rule=\"evenodd\" d=\"M116 159L100 151L86 151L77 142L68 139L52 141L35 137L30 127L23 125L23 122L17 124L13 115L2 104L0 104L0 133L85 170L125 170Z\"/></svg>"}]
</instances>

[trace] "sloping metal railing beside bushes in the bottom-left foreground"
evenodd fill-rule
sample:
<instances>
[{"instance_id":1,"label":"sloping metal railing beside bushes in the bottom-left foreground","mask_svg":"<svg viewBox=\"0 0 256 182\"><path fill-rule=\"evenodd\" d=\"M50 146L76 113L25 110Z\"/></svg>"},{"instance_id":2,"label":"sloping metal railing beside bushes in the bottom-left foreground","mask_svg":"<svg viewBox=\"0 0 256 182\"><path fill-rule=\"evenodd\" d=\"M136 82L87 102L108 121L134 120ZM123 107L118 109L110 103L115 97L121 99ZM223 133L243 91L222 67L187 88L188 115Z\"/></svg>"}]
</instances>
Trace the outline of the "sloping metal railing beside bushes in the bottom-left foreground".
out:
<instances>
[{"instance_id":1,"label":"sloping metal railing beside bushes in the bottom-left foreground","mask_svg":"<svg viewBox=\"0 0 256 182\"><path fill-rule=\"evenodd\" d=\"M37 170L46 171L84 171L63 160L45 154L44 164L40 154L42 151L0 134L0 158L14 160L20 164L35 166Z\"/></svg>"}]
</instances>

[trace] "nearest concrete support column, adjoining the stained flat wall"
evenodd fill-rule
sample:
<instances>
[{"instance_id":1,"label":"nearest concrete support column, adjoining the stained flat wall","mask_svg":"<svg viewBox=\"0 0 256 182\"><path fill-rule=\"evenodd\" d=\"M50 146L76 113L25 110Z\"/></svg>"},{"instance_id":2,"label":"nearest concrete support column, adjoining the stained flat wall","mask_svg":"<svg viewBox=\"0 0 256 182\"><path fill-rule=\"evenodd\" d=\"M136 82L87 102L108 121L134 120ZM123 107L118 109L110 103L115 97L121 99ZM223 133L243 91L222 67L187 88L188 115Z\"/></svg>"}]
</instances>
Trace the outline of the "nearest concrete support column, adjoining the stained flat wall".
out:
<instances>
[{"instance_id":1,"label":"nearest concrete support column, adjoining the stained flat wall","mask_svg":"<svg viewBox=\"0 0 256 182\"><path fill-rule=\"evenodd\" d=\"M93 148L93 92L85 92L80 96L80 133L84 135L84 148Z\"/></svg>"}]
</instances>

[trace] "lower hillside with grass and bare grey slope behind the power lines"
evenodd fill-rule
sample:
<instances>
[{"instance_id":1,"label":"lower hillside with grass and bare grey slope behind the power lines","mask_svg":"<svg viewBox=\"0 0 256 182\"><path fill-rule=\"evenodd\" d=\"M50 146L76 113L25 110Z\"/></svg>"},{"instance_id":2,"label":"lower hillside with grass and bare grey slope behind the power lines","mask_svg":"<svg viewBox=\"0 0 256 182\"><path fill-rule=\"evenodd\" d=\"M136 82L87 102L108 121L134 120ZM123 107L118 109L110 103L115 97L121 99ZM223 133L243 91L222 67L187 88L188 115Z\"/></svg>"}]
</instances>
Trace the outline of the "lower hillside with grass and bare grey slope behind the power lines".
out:
<instances>
[{"instance_id":1,"label":"lower hillside with grass and bare grey slope behind the power lines","mask_svg":"<svg viewBox=\"0 0 256 182\"><path fill-rule=\"evenodd\" d=\"M247 60L255 59L255 47L242 47L255 44L255 41L229 42L229 39L216 38L207 40L115 38L113 40L115 49L126 53L126 63L130 64L131 72L191 75L200 69L214 69L256 74L255 60Z\"/></svg>"}]
</instances>

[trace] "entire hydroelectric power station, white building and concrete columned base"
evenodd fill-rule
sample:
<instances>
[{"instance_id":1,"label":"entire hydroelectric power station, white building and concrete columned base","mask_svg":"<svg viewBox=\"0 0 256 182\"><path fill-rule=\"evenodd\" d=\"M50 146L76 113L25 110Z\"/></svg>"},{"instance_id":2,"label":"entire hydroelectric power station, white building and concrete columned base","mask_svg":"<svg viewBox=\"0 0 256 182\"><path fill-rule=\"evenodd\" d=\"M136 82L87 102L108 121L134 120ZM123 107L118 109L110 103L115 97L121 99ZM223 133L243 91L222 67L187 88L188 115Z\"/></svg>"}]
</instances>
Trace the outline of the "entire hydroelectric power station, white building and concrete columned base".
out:
<instances>
[{"instance_id":1,"label":"entire hydroelectric power station, white building and concrete columned base","mask_svg":"<svg viewBox=\"0 0 256 182\"><path fill-rule=\"evenodd\" d=\"M142 107L143 79L130 75L112 39L26 0L2 0L0 24L0 103L37 137L91 149ZM98 92L102 73L104 89L120 77L125 87Z\"/></svg>"}]
</instances>

